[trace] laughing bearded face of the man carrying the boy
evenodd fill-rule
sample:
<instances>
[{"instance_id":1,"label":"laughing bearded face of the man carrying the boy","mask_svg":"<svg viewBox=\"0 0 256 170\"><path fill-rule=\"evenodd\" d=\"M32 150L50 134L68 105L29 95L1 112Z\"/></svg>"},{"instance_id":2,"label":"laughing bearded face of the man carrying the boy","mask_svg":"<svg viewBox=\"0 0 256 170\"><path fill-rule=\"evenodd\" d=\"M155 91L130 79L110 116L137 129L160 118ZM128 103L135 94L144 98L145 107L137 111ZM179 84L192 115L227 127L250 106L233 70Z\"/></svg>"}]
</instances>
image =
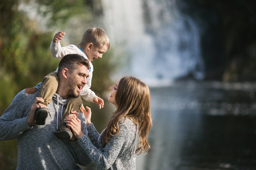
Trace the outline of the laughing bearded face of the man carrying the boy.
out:
<instances>
[{"instance_id":1,"label":"laughing bearded face of the man carrying the boy","mask_svg":"<svg viewBox=\"0 0 256 170\"><path fill-rule=\"evenodd\" d=\"M89 71L85 66L77 66L68 76L68 95L79 97L82 87L86 84L86 78L89 76Z\"/></svg>"}]
</instances>

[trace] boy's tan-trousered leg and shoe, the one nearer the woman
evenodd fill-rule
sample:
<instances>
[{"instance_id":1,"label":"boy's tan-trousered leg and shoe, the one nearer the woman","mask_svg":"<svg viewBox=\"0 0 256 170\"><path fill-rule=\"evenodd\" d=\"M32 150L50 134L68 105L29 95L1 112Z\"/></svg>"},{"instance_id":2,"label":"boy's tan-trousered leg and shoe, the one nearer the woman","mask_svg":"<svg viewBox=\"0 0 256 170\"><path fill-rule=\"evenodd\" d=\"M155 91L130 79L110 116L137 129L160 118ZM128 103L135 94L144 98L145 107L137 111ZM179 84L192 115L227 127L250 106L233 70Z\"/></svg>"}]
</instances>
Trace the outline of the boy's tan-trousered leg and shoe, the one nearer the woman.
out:
<instances>
[{"instance_id":1,"label":"boy's tan-trousered leg and shoe, the one nearer the woman","mask_svg":"<svg viewBox=\"0 0 256 170\"><path fill-rule=\"evenodd\" d=\"M73 137L73 133L71 129L65 124L64 118L71 114L72 111L79 112L79 109L82 105L81 97L68 97L67 107L65 109L64 115L61 120L60 127L54 132L54 134L60 139L71 139Z\"/></svg>"}]
</instances>

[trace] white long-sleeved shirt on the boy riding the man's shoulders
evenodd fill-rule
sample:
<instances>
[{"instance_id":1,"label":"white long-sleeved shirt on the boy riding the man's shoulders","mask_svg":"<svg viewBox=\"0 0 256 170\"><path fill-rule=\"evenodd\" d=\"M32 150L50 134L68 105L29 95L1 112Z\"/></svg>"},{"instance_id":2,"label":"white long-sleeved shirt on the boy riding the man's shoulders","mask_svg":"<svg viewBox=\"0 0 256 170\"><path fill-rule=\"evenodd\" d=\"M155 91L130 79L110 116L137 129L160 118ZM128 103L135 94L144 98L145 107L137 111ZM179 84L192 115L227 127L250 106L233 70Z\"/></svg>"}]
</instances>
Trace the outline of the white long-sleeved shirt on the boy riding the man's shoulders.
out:
<instances>
[{"instance_id":1,"label":"white long-sleeved shirt on the boy riding the man's shoulders","mask_svg":"<svg viewBox=\"0 0 256 170\"><path fill-rule=\"evenodd\" d=\"M73 44L62 47L60 45L60 41L56 43L52 41L50 45L50 50L52 53L52 57L57 59L61 59L67 54L79 54L82 57L88 59L86 54L82 52L82 50L80 50L76 45L73 45ZM92 65L92 62L89 62L89 63L90 63L89 77L87 79L87 83L85 84L85 86L82 88L80 92L80 96L82 97L82 99L86 101L93 102L93 97L97 95L92 90L90 90L90 87L92 86L93 65Z\"/></svg>"}]
</instances>

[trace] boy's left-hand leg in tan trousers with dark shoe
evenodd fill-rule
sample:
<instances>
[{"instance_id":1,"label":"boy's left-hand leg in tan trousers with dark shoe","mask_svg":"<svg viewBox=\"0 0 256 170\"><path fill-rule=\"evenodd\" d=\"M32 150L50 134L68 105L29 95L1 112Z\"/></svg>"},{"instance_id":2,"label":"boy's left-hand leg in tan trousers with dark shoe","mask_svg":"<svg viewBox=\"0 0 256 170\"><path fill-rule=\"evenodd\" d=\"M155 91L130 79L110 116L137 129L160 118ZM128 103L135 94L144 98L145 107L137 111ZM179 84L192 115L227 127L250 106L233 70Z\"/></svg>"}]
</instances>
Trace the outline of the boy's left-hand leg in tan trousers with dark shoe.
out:
<instances>
[{"instance_id":1,"label":"boy's left-hand leg in tan trousers with dark shoe","mask_svg":"<svg viewBox=\"0 0 256 170\"><path fill-rule=\"evenodd\" d=\"M42 86L39 91L39 97L42 97L44 102L42 104L48 105L51 103L52 96L57 91L59 84L59 77L57 72L49 73L47 76L44 77ZM39 108L36 110L35 119L36 125L44 125L46 124L46 118L48 116L47 108Z\"/></svg>"}]
</instances>

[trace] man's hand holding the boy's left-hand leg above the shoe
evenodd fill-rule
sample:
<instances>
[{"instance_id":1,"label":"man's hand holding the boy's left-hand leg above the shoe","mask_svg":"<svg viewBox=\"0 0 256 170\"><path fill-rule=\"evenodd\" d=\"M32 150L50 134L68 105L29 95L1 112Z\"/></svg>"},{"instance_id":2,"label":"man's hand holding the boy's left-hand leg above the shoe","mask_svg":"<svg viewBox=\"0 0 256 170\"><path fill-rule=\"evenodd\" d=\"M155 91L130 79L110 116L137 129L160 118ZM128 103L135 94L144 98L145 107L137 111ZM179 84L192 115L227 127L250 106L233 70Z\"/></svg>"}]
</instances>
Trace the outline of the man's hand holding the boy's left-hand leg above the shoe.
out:
<instances>
[{"instance_id":1,"label":"man's hand holding the boy's left-hand leg above the shoe","mask_svg":"<svg viewBox=\"0 0 256 170\"><path fill-rule=\"evenodd\" d=\"M39 102L44 102L42 97L35 97L34 103L30 107L30 114L27 116L27 124L29 126L35 124L35 111L36 109L39 108L47 108L46 105L39 103Z\"/></svg>"}]
</instances>

